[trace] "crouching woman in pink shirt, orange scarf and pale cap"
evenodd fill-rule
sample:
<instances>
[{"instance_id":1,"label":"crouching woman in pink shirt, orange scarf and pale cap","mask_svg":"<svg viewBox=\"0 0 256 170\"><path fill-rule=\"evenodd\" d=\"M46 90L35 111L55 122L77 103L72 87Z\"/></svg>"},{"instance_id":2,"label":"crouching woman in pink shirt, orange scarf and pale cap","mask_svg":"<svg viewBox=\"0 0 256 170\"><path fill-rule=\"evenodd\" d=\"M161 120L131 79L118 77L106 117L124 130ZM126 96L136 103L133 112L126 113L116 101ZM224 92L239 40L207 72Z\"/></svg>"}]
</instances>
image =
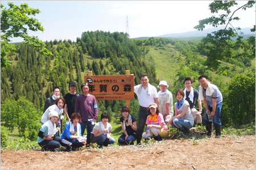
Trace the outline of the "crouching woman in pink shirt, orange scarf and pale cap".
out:
<instances>
[{"instance_id":1,"label":"crouching woman in pink shirt, orange scarf and pale cap","mask_svg":"<svg viewBox=\"0 0 256 170\"><path fill-rule=\"evenodd\" d=\"M142 137L145 139L154 137L156 141L162 141L162 138L165 138L168 135L168 127L164 122L163 115L159 113L158 105L156 103L151 103L149 108L146 120L147 128L149 128L149 130L143 132Z\"/></svg>"}]
</instances>

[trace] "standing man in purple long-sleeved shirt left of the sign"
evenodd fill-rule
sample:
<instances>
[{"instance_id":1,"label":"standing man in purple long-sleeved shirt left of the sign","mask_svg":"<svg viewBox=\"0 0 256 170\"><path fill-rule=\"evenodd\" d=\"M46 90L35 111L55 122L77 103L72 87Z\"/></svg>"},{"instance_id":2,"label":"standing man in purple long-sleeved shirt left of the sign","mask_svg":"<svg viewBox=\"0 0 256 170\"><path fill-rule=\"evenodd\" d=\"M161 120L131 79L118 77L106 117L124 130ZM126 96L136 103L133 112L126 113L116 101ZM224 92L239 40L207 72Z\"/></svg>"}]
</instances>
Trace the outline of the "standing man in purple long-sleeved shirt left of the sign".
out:
<instances>
[{"instance_id":1,"label":"standing man in purple long-sleeved shirt left of the sign","mask_svg":"<svg viewBox=\"0 0 256 170\"><path fill-rule=\"evenodd\" d=\"M98 118L98 107L96 98L89 94L89 85L84 83L81 85L82 95L76 98L75 112L81 114L79 123L81 124L81 134L84 135L87 126L87 141L86 145L90 144L90 135L93 131L93 124L89 121L90 118L96 123Z\"/></svg>"}]
</instances>

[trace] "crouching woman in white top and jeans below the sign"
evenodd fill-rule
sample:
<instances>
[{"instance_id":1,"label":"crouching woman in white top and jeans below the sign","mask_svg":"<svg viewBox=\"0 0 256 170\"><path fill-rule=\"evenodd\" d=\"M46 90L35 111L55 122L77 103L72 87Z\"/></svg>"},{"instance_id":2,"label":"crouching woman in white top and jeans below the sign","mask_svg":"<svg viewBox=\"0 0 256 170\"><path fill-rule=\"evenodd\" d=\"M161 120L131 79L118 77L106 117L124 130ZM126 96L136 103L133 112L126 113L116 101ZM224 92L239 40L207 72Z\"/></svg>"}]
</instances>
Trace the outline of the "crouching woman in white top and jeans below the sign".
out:
<instances>
[{"instance_id":1,"label":"crouching woman in white top and jeans below the sign","mask_svg":"<svg viewBox=\"0 0 256 170\"><path fill-rule=\"evenodd\" d=\"M102 147L111 145L115 143L115 139L111 136L112 126L109 124L109 115L108 113L101 114L101 121L98 122L93 129L94 137L98 146Z\"/></svg>"}]
</instances>

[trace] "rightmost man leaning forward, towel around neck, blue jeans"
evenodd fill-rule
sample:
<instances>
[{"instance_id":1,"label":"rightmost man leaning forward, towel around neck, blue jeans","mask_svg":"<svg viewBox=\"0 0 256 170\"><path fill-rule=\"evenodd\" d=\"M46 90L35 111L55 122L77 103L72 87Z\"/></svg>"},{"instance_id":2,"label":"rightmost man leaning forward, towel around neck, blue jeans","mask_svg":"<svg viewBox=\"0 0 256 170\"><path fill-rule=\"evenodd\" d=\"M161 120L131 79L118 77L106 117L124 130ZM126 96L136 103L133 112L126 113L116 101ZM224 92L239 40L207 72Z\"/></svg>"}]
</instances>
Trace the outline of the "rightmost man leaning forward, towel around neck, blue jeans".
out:
<instances>
[{"instance_id":1,"label":"rightmost man leaning forward, towel around neck, blue jeans","mask_svg":"<svg viewBox=\"0 0 256 170\"><path fill-rule=\"evenodd\" d=\"M201 75L199 80L199 100L204 102L204 122L207 131L207 135L212 135L212 122L209 122L209 118L213 117L213 125L215 126L216 135L215 138L221 136L221 107L222 107L222 94L218 87L211 84L205 75ZM201 88L203 87L203 88ZM208 118L209 114L209 118Z\"/></svg>"}]
</instances>

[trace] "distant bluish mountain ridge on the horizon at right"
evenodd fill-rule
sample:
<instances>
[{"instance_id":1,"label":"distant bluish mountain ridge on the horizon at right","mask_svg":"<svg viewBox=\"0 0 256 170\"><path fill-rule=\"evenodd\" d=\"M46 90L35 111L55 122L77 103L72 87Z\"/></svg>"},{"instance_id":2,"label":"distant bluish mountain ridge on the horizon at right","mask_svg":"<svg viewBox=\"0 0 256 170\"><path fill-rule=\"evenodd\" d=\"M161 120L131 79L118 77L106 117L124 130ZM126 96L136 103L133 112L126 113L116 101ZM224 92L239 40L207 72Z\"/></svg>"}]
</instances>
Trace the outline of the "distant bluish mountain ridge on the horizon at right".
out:
<instances>
[{"instance_id":1,"label":"distant bluish mountain ridge on the horizon at right","mask_svg":"<svg viewBox=\"0 0 256 170\"><path fill-rule=\"evenodd\" d=\"M172 37L172 38L181 38L181 37L206 37L208 33L212 33L213 31L218 31L219 29L224 29L225 27L217 27L217 28L208 28L204 29L203 31L189 31L183 33L168 33L162 36L156 37ZM251 28L241 28L240 32L243 32L243 35L252 34L253 32L250 31Z\"/></svg>"}]
</instances>

